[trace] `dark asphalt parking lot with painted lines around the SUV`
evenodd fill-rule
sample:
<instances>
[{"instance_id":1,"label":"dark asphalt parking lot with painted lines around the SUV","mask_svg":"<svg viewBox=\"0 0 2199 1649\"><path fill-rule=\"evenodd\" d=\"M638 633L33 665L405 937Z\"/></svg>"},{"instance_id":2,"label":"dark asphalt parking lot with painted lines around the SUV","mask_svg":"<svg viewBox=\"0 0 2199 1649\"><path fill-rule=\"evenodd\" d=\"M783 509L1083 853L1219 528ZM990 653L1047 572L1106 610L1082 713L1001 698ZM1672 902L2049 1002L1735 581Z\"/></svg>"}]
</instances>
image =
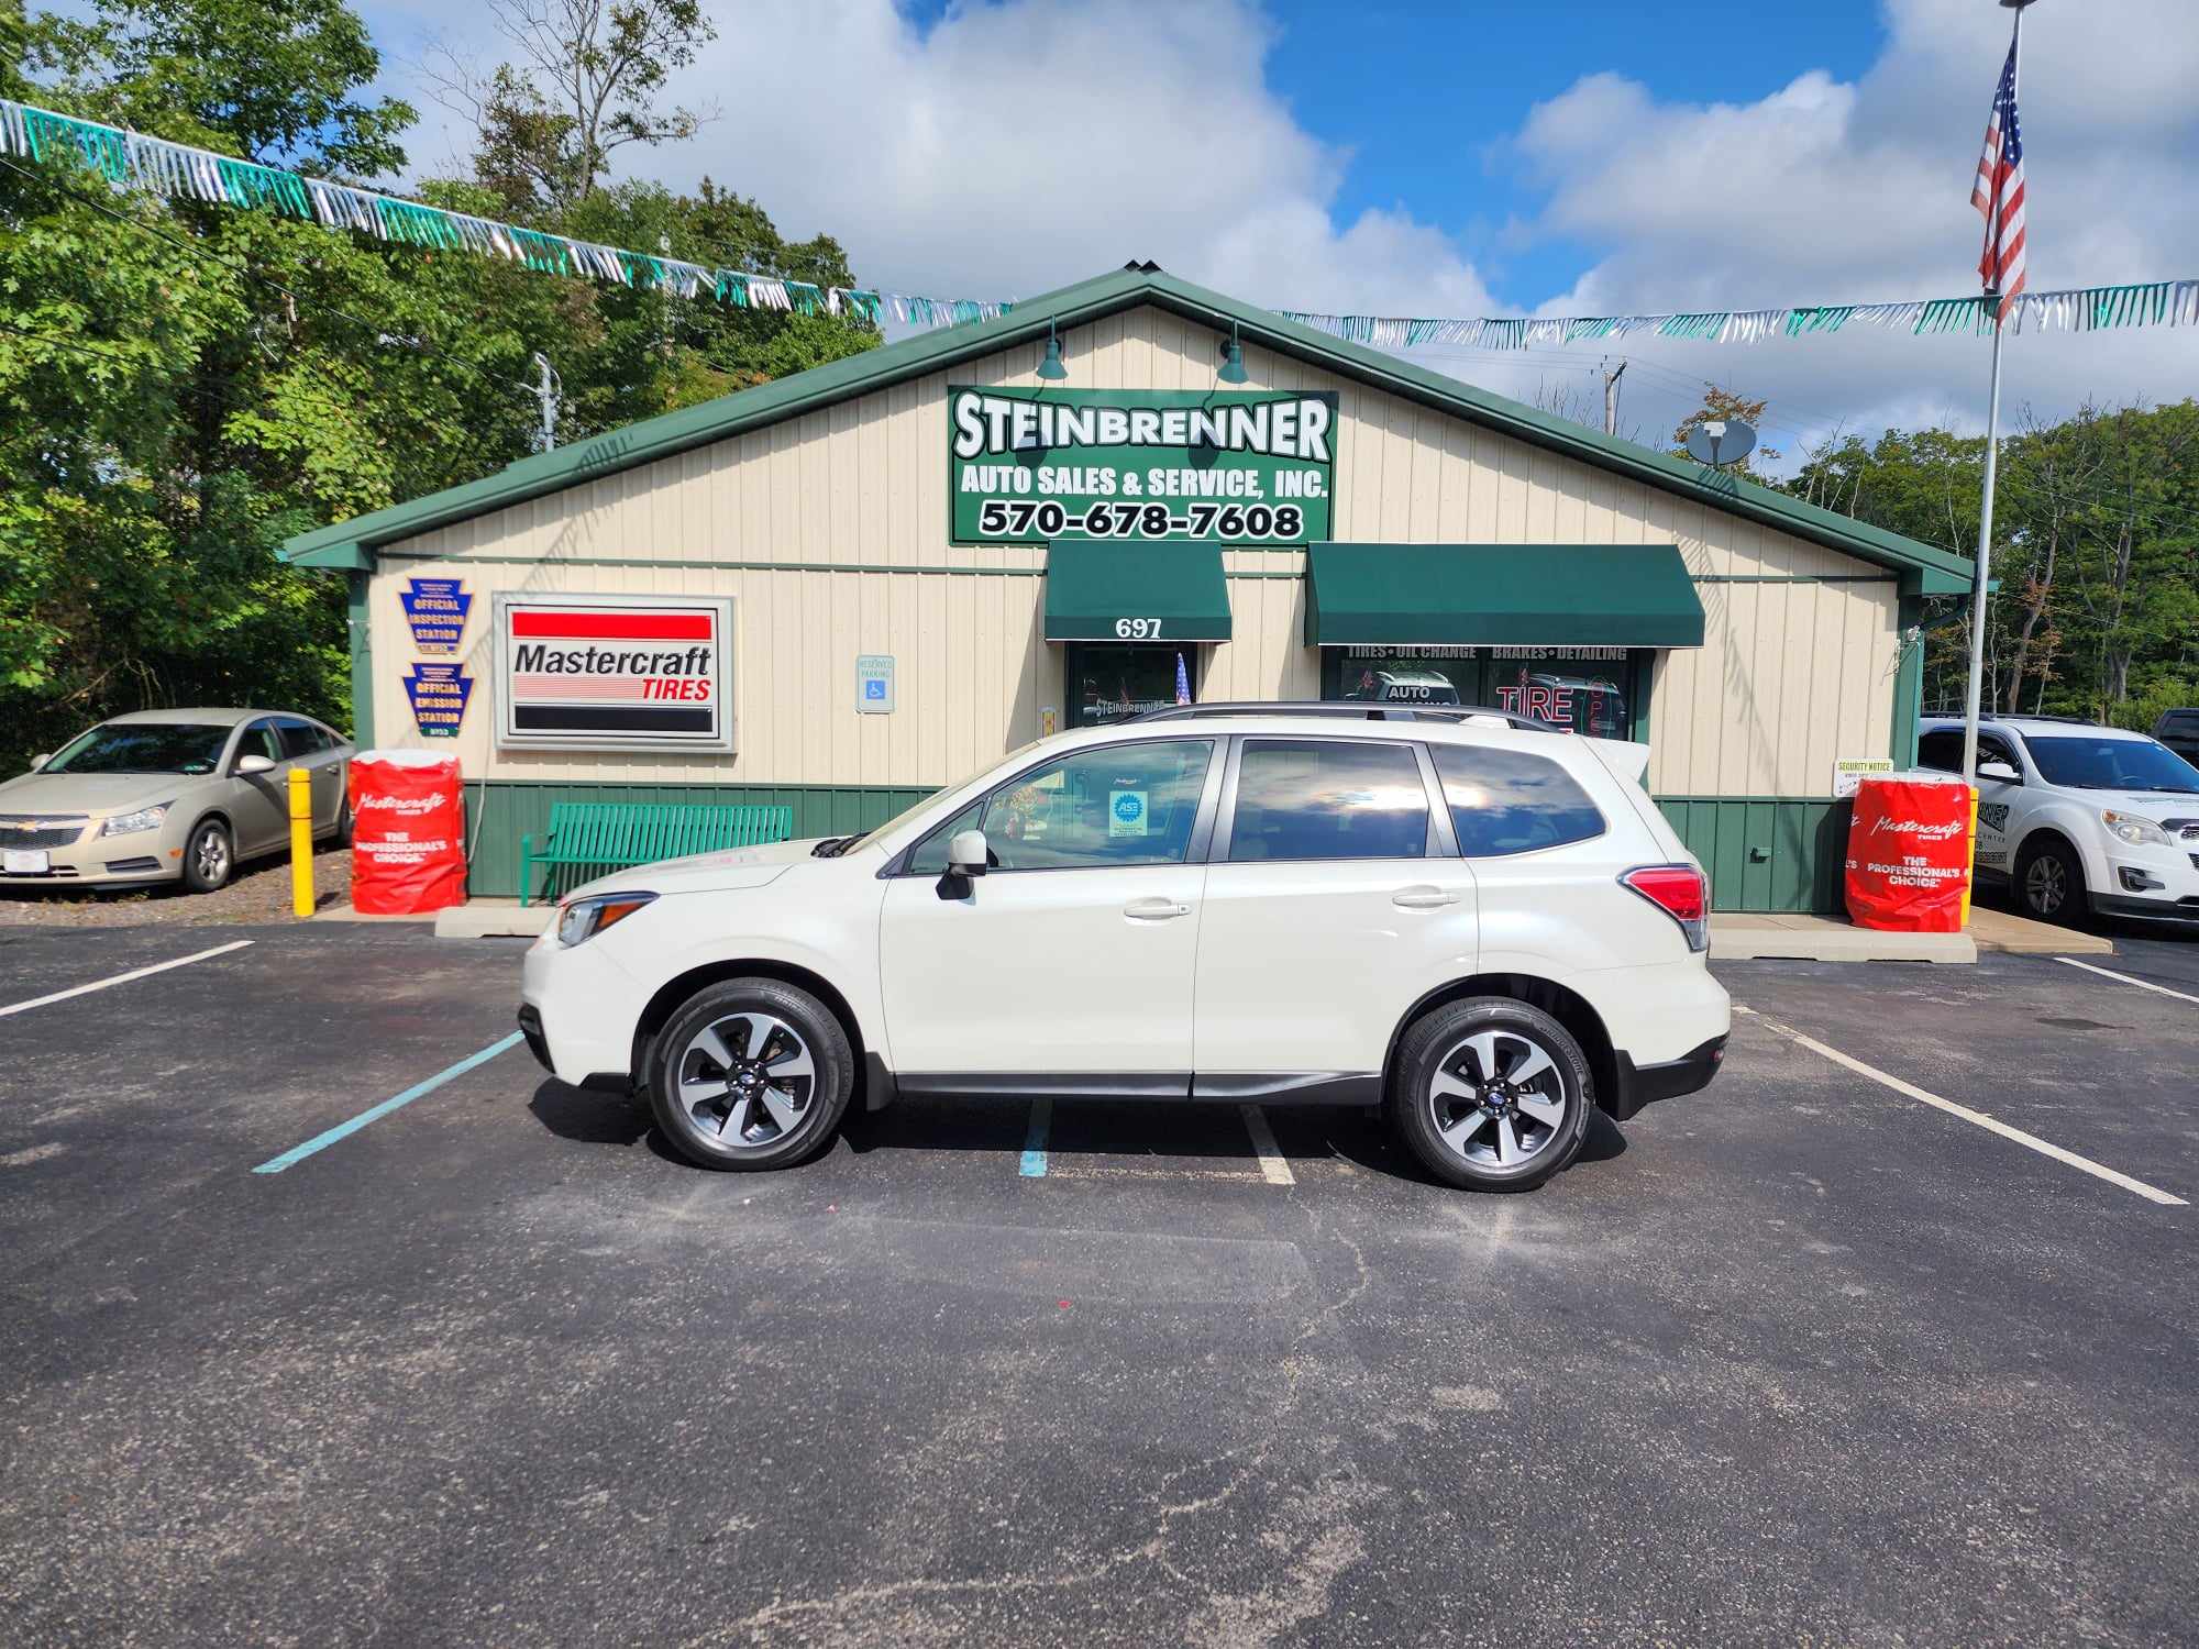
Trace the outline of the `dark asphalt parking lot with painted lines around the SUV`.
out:
<instances>
[{"instance_id":1,"label":"dark asphalt parking lot with painted lines around the SUV","mask_svg":"<svg viewBox=\"0 0 2199 1649\"><path fill-rule=\"evenodd\" d=\"M1717 965L1711 1091L1473 1196L1339 1110L706 1174L490 1053L517 943L9 934L0 1638L2190 1640L2199 943L2120 952Z\"/></svg>"}]
</instances>

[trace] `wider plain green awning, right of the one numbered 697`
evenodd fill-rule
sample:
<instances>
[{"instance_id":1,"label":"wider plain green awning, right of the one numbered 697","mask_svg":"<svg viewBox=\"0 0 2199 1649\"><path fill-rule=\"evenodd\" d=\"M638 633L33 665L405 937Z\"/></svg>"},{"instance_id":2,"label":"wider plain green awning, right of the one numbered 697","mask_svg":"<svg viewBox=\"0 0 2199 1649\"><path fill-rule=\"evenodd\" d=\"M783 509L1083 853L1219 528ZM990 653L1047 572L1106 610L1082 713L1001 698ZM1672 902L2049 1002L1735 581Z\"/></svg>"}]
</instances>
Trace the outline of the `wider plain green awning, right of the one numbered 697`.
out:
<instances>
[{"instance_id":1,"label":"wider plain green awning, right of the one numbered 697","mask_svg":"<svg viewBox=\"0 0 2199 1649\"><path fill-rule=\"evenodd\" d=\"M1313 646L1702 646L1676 543L1317 543Z\"/></svg>"}]
</instances>

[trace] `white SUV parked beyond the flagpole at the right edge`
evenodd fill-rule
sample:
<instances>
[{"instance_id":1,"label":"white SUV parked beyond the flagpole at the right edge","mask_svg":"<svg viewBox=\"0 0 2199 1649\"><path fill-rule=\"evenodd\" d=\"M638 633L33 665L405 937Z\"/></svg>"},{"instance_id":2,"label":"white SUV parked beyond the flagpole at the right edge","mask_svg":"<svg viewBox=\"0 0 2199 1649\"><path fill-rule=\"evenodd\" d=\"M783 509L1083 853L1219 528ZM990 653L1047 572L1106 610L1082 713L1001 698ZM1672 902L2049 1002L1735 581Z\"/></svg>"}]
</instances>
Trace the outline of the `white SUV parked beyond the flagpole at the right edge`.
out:
<instances>
[{"instance_id":1,"label":"white SUV parked beyond the flagpole at the right edge","mask_svg":"<svg viewBox=\"0 0 2199 1649\"><path fill-rule=\"evenodd\" d=\"M1918 765L1962 772L1962 721L1918 730ZM1977 728L1977 879L2041 921L2087 910L2199 921L2199 767L2159 739L2060 717Z\"/></svg>"}]
</instances>

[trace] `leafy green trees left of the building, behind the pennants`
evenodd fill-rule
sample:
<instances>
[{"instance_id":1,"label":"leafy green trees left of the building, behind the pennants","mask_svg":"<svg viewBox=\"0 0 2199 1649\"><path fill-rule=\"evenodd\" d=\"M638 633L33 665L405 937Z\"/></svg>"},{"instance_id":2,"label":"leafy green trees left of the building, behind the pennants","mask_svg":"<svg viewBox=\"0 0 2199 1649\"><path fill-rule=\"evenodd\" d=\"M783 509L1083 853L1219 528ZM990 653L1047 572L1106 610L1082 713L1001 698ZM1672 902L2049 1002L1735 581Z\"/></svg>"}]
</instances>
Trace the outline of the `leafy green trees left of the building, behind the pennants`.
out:
<instances>
[{"instance_id":1,"label":"leafy green trees left of the building, behind the pennants","mask_svg":"<svg viewBox=\"0 0 2199 1649\"><path fill-rule=\"evenodd\" d=\"M339 0L0 0L0 92L200 147L358 178L402 167L411 110ZM435 202L501 215L479 182ZM583 211L585 207L585 211ZM574 231L853 284L704 187L596 189ZM719 251L706 251L706 242ZM726 310L262 211L114 193L48 156L0 165L0 770L156 704L350 719L343 585L284 565L306 528L530 451L530 358L585 438L873 347L838 317Z\"/></svg>"}]
</instances>

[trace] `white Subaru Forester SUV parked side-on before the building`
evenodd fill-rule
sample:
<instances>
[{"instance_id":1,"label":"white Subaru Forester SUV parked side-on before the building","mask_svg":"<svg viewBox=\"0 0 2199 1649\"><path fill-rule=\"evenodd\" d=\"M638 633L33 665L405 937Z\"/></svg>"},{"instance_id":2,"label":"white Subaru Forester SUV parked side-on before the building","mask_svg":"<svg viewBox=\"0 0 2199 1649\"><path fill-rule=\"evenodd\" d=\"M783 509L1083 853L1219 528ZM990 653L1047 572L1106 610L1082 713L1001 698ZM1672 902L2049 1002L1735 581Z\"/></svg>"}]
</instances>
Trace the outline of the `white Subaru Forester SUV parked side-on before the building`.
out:
<instances>
[{"instance_id":1,"label":"white Subaru Forester SUV parked side-on before the building","mask_svg":"<svg viewBox=\"0 0 2199 1649\"><path fill-rule=\"evenodd\" d=\"M858 838L592 882L528 952L561 1080L783 1167L899 1095L1381 1106L1454 1185L1720 1069L1709 886L1647 750L1502 712L1181 706Z\"/></svg>"}]
</instances>

